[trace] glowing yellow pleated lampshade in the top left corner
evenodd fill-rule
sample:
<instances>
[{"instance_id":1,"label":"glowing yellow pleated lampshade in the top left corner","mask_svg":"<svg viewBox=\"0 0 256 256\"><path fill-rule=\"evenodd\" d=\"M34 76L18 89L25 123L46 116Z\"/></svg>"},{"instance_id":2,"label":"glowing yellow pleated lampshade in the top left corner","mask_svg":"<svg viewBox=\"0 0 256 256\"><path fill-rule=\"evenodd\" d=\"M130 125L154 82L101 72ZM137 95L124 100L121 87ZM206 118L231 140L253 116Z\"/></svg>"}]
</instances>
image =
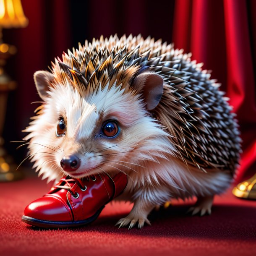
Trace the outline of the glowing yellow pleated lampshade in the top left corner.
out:
<instances>
[{"instance_id":1,"label":"glowing yellow pleated lampshade in the top left corner","mask_svg":"<svg viewBox=\"0 0 256 256\"><path fill-rule=\"evenodd\" d=\"M25 27L28 23L21 0L0 0L0 27L18 28Z\"/></svg>"}]
</instances>

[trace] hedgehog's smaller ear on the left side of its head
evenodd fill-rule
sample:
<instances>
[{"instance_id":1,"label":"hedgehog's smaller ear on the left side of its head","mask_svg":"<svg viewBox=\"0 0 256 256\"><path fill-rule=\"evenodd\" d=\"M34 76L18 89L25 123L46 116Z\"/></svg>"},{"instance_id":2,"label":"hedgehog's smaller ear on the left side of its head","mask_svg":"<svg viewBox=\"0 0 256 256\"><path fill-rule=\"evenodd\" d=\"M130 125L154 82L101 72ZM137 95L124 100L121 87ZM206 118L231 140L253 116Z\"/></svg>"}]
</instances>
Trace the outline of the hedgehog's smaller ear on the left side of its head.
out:
<instances>
[{"instance_id":1,"label":"hedgehog's smaller ear on the left side of its head","mask_svg":"<svg viewBox=\"0 0 256 256\"><path fill-rule=\"evenodd\" d=\"M34 73L34 81L41 99L45 100L48 97L47 91L49 91L53 79L53 74L48 71L37 71Z\"/></svg>"}]
</instances>

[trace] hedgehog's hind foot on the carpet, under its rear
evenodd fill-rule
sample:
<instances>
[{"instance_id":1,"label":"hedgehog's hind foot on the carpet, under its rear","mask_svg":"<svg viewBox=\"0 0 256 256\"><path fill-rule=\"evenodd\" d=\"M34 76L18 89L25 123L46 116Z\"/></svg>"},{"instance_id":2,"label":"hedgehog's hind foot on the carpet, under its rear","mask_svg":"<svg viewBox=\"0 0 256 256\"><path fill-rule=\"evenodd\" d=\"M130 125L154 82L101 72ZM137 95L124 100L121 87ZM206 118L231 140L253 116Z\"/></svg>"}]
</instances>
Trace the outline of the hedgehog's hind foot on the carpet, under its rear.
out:
<instances>
[{"instance_id":1,"label":"hedgehog's hind foot on the carpet, under its rear","mask_svg":"<svg viewBox=\"0 0 256 256\"><path fill-rule=\"evenodd\" d=\"M196 204L188 209L187 213L192 213L192 215L200 214L200 216L212 213L212 202L214 196L199 196L197 198Z\"/></svg>"}]
</instances>

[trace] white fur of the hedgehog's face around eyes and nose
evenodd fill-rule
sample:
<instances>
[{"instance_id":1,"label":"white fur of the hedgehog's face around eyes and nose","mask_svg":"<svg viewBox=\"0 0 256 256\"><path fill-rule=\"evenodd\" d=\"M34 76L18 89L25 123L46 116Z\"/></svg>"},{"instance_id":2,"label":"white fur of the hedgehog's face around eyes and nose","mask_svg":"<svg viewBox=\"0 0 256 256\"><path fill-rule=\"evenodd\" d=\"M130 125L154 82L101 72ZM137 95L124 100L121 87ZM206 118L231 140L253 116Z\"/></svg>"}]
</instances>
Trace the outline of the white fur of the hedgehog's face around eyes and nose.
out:
<instances>
[{"instance_id":1,"label":"white fur of the hedgehog's face around eyes and nose","mask_svg":"<svg viewBox=\"0 0 256 256\"><path fill-rule=\"evenodd\" d=\"M168 143L169 135L132 92L106 86L84 99L72 86L59 85L48 94L43 113L30 123L26 129L30 133L25 137L32 142L29 150L36 171L48 181L71 175L60 166L61 159L68 154L81 159L80 167L71 175L81 178L97 172L123 170L127 162L134 166L174 152ZM57 137L60 116L66 120L67 131L65 136ZM116 120L120 125L115 138L100 136L106 120Z\"/></svg>"}]
</instances>

